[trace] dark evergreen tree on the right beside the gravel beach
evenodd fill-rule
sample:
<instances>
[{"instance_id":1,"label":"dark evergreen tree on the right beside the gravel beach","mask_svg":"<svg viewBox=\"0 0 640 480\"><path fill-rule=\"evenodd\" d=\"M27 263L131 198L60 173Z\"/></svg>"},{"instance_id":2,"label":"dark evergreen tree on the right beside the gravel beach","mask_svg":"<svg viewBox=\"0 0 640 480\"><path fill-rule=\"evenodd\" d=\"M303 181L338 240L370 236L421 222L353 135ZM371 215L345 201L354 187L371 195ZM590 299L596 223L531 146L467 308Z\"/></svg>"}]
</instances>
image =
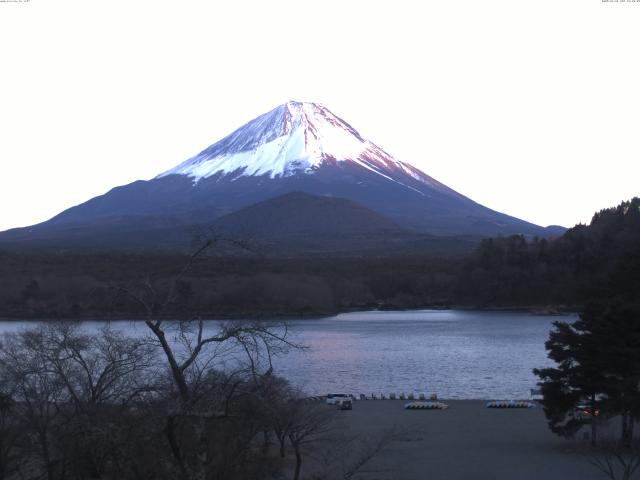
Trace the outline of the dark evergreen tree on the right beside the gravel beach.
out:
<instances>
[{"instance_id":1,"label":"dark evergreen tree on the right beside the gravel beach","mask_svg":"<svg viewBox=\"0 0 640 480\"><path fill-rule=\"evenodd\" d=\"M554 327L546 348L558 365L534 370L551 430L573 436L590 424L595 445L597 425L619 417L620 442L630 446L640 419L640 309L622 300L594 303L574 323Z\"/></svg>"}]
</instances>

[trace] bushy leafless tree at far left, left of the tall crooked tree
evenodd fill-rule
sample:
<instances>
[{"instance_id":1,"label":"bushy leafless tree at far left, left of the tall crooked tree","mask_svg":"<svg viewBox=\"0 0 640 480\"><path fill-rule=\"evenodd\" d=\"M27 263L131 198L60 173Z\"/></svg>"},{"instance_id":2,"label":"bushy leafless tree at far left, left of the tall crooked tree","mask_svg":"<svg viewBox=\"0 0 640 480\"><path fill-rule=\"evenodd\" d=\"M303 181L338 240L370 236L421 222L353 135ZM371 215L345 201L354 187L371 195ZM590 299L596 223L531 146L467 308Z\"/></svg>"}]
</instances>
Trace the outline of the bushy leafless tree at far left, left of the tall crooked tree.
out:
<instances>
[{"instance_id":1,"label":"bushy leafless tree at far left, left of the tall crooked tree","mask_svg":"<svg viewBox=\"0 0 640 480\"><path fill-rule=\"evenodd\" d=\"M149 391L151 350L108 327L89 335L55 322L4 337L0 373L28 434L23 460L48 479L100 474L113 460L112 430ZM35 447L35 448L30 448Z\"/></svg>"}]
</instances>

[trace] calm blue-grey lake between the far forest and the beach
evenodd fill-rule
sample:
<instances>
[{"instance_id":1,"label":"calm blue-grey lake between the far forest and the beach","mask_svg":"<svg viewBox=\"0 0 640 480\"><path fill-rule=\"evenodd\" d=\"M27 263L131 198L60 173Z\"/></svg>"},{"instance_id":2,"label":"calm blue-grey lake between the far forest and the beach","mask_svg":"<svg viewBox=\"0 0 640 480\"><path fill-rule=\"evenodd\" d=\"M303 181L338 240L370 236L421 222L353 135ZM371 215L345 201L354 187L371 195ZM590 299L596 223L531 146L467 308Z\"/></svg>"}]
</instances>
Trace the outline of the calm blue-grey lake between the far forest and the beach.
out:
<instances>
[{"instance_id":1,"label":"calm blue-grey lake between the far forest and the beach","mask_svg":"<svg viewBox=\"0 0 640 480\"><path fill-rule=\"evenodd\" d=\"M437 393L440 398L529 398L532 369L552 365L544 342L552 322L575 315L420 310L357 312L293 320L292 339L306 345L274 361L277 373L310 395L328 392ZM102 322L84 322L98 328ZM112 322L139 335L140 322ZM26 322L0 322L0 332ZM208 323L215 328L216 322Z\"/></svg>"}]
</instances>

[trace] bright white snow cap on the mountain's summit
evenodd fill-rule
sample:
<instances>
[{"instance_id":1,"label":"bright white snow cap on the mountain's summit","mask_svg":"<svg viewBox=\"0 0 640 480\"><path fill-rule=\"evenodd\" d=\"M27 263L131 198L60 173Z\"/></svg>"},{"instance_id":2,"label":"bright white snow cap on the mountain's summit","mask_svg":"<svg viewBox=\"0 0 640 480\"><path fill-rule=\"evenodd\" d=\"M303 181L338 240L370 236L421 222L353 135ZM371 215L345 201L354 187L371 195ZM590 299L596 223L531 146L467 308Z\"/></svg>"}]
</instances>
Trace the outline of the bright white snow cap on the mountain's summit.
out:
<instances>
[{"instance_id":1,"label":"bright white snow cap on the mountain's summit","mask_svg":"<svg viewBox=\"0 0 640 480\"><path fill-rule=\"evenodd\" d=\"M178 174L198 182L216 174L234 178L288 177L312 174L322 165L341 162L358 165L395 182L402 183L397 174L408 174L431 187L446 189L364 139L325 106L295 101L255 118L157 178Z\"/></svg>"}]
</instances>

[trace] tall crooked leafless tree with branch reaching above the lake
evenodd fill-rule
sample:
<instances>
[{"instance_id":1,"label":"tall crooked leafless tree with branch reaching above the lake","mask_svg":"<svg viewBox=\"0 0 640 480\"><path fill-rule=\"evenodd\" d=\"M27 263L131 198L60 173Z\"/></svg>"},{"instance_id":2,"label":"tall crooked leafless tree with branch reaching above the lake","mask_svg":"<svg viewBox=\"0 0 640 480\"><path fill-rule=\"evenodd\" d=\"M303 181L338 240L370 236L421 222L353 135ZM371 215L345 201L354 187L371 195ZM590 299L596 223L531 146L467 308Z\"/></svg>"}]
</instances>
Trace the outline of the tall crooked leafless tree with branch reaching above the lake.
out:
<instances>
[{"instance_id":1,"label":"tall crooked leafless tree with branch reaching above the lake","mask_svg":"<svg viewBox=\"0 0 640 480\"><path fill-rule=\"evenodd\" d=\"M276 385L270 381L272 358L296 347L288 339L285 323L213 322L207 328L196 315L177 322L162 320L176 305L189 307L179 301L183 277L209 247L221 241L214 238L203 244L169 283L154 285L145 280L118 288L145 312L150 341L161 352L159 362L168 371L163 431L175 478L204 480L212 478L212 472L223 472L220 478L244 478L245 473L229 468L263 463L247 455L259 433L268 440L265 432L270 425L261 413L267 411L264 405L273 399L271 390ZM236 427L226 432L234 417L244 420L244 431ZM246 478L255 478L257 472L250 473Z\"/></svg>"}]
</instances>

